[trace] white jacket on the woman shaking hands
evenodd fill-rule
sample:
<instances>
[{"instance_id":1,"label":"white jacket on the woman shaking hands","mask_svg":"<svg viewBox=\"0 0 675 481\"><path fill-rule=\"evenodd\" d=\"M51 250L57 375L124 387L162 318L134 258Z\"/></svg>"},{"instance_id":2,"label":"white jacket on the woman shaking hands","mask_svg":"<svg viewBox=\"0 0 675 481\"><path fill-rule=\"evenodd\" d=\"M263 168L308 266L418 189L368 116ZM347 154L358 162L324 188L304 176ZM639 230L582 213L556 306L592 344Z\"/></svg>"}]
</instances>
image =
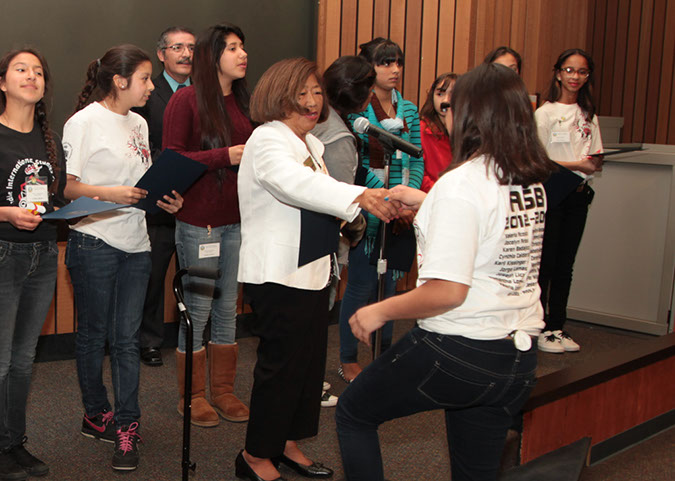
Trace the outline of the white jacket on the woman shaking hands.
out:
<instances>
[{"instance_id":1,"label":"white jacket on the woman shaking hands","mask_svg":"<svg viewBox=\"0 0 675 481\"><path fill-rule=\"evenodd\" d=\"M261 125L251 135L239 167L241 211L239 282L274 282L319 290L330 276L330 256L298 269L300 208L352 221L365 187L344 184L325 173L323 144L307 134L306 144L283 122ZM308 150L309 147L309 150ZM313 170L310 151L318 168Z\"/></svg>"}]
</instances>

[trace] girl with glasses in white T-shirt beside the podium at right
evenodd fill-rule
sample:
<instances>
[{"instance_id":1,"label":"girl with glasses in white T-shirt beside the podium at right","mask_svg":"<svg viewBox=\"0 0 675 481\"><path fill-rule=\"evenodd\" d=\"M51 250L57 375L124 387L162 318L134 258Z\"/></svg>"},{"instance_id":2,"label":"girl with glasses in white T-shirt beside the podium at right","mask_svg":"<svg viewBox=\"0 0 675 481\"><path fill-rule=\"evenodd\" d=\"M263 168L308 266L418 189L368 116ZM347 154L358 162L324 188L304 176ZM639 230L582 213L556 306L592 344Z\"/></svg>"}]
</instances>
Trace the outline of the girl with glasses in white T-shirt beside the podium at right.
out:
<instances>
[{"instance_id":1,"label":"girl with glasses in white T-shirt beside the podium at right","mask_svg":"<svg viewBox=\"0 0 675 481\"><path fill-rule=\"evenodd\" d=\"M539 138L549 157L578 176L579 186L546 213L539 285L546 312L546 327L539 349L563 353L578 351L579 344L563 330L572 268L584 233L588 206L593 200L590 176L602 170L602 139L593 102L593 59L580 49L558 57L544 105L535 112Z\"/></svg>"}]
</instances>

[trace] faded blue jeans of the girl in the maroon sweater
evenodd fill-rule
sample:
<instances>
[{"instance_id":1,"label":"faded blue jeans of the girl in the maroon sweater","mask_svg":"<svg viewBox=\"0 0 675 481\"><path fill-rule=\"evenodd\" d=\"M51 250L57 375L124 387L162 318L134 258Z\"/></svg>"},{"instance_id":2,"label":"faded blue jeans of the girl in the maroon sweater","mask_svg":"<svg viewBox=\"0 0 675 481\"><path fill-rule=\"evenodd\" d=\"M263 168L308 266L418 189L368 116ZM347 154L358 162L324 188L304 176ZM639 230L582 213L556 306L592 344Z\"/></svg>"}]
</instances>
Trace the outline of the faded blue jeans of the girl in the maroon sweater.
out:
<instances>
[{"instance_id":1,"label":"faded blue jeans of the girl in the maroon sweater","mask_svg":"<svg viewBox=\"0 0 675 481\"><path fill-rule=\"evenodd\" d=\"M199 258L201 244L220 244L220 256ZM203 343L204 328L211 316L211 342L234 344L237 329L237 297L239 284L239 224L207 229L179 220L176 221L176 252L181 267L209 267L220 269L216 280L186 276L183 278L185 306L190 313L194 330L193 346L197 351ZM178 332L178 349L185 351L185 329L181 322Z\"/></svg>"}]
</instances>

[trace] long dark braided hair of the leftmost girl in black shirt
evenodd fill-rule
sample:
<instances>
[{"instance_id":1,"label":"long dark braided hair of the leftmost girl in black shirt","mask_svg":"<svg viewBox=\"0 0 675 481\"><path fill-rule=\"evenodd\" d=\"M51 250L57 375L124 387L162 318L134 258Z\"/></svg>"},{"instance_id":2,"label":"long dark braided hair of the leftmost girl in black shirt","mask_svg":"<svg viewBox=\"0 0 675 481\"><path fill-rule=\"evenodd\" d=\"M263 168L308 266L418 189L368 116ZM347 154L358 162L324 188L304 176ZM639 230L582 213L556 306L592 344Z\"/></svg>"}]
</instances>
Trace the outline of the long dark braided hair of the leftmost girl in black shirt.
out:
<instances>
[{"instance_id":1,"label":"long dark braided hair of the leftmost girl in black shirt","mask_svg":"<svg viewBox=\"0 0 675 481\"><path fill-rule=\"evenodd\" d=\"M52 182L49 191L51 193L55 193L56 190L58 189L59 183L58 179L60 169L58 156L56 154L56 142L54 140L52 131L49 128L48 114L49 114L49 106L51 105L52 74L49 70L47 60L42 56L42 54L40 54L40 52L38 52L33 48L12 50L10 52L7 52L2 57L2 59L0 59L0 78L3 80L5 79L5 76L7 75L7 69L9 69L9 64L12 62L12 60L14 60L14 57L22 53L29 53L31 55L34 55L42 65L42 75L45 80L45 93L42 96L42 98L35 104L35 112L33 115L34 121L37 122L37 124L40 126L40 131L42 132L42 140L45 143L45 150L47 151L47 160L49 161L49 164L52 166L52 171L54 172L54 182ZM0 90L0 115L2 115L5 112L6 108L7 108L7 97L5 96L5 92Z\"/></svg>"}]
</instances>

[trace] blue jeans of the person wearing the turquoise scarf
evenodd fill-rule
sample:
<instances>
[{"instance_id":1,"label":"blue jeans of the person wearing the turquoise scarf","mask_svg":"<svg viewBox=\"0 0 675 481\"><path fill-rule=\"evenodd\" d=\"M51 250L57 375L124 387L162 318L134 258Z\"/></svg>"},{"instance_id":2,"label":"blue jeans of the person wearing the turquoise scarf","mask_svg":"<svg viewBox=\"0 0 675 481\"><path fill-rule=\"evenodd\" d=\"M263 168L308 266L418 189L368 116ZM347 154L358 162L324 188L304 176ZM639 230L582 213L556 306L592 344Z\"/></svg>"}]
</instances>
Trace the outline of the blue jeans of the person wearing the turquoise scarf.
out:
<instances>
[{"instance_id":1,"label":"blue jeans of the person wearing the turquoise scarf","mask_svg":"<svg viewBox=\"0 0 675 481\"><path fill-rule=\"evenodd\" d=\"M396 293L396 282L388 271L384 281L385 299ZM349 318L363 306L377 301L377 267L370 264L366 255L366 239L349 252L347 287L340 304L340 362L357 362L359 341L352 334ZM393 325L388 322L382 328L382 351L391 346Z\"/></svg>"}]
</instances>

